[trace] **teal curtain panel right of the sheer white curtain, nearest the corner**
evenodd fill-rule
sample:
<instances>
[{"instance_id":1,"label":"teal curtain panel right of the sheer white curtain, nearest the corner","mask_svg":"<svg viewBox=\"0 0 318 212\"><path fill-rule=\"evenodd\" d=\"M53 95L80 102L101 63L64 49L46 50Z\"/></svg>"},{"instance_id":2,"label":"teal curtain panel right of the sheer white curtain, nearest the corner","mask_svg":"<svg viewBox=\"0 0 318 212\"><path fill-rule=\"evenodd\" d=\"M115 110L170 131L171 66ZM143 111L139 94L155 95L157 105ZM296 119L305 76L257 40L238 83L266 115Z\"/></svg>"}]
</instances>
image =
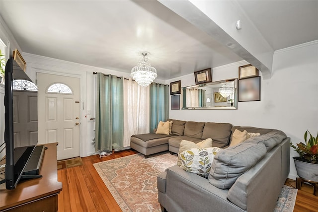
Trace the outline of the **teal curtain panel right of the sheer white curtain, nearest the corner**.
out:
<instances>
[{"instance_id":1,"label":"teal curtain panel right of the sheer white curtain, nearest the corner","mask_svg":"<svg viewBox=\"0 0 318 212\"><path fill-rule=\"evenodd\" d=\"M153 133L159 121L169 118L169 86L159 83L150 85L150 132Z\"/></svg>"}]
</instances>

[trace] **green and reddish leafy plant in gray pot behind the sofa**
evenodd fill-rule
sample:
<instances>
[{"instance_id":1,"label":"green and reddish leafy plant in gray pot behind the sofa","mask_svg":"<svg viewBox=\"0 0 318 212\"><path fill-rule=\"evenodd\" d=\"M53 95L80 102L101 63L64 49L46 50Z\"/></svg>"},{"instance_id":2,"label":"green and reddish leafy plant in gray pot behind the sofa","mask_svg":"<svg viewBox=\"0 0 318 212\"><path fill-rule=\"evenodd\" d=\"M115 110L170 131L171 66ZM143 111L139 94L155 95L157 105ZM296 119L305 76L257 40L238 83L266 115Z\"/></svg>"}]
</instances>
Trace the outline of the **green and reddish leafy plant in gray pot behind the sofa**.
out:
<instances>
[{"instance_id":1,"label":"green and reddish leafy plant in gray pot behind the sofa","mask_svg":"<svg viewBox=\"0 0 318 212\"><path fill-rule=\"evenodd\" d=\"M296 171L301 178L318 182L318 135L315 138L309 131L306 131L304 138L305 143L297 143L297 146L290 143L290 146L299 154L299 157L293 157Z\"/></svg>"}]
</instances>

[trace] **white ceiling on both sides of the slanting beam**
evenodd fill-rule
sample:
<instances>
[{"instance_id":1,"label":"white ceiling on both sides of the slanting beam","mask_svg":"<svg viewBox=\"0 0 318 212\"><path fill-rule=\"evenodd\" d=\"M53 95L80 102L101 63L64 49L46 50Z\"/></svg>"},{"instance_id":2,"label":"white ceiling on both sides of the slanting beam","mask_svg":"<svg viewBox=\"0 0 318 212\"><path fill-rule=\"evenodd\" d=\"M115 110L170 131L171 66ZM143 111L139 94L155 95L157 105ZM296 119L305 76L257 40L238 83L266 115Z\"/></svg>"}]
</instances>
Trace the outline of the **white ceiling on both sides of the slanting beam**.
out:
<instances>
[{"instance_id":1,"label":"white ceiling on both sides of the slanting beam","mask_svg":"<svg viewBox=\"0 0 318 212\"><path fill-rule=\"evenodd\" d=\"M275 50L318 39L317 2L239 1ZM143 51L160 79L242 60L158 1L1 0L0 14L23 52L105 69Z\"/></svg>"}]
</instances>

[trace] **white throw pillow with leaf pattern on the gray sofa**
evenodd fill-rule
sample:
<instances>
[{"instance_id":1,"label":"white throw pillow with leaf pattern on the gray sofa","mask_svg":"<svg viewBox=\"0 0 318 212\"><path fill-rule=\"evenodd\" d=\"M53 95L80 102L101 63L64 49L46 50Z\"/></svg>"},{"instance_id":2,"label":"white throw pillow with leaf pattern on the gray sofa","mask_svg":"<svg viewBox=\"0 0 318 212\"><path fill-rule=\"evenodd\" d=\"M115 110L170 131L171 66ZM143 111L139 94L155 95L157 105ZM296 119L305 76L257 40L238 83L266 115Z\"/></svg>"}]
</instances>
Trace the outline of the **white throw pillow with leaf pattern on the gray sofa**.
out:
<instances>
[{"instance_id":1,"label":"white throw pillow with leaf pattern on the gray sofa","mask_svg":"<svg viewBox=\"0 0 318 212\"><path fill-rule=\"evenodd\" d=\"M214 155L222 150L218 147L190 148L181 152L181 168L187 172L195 173L208 178Z\"/></svg>"}]
</instances>

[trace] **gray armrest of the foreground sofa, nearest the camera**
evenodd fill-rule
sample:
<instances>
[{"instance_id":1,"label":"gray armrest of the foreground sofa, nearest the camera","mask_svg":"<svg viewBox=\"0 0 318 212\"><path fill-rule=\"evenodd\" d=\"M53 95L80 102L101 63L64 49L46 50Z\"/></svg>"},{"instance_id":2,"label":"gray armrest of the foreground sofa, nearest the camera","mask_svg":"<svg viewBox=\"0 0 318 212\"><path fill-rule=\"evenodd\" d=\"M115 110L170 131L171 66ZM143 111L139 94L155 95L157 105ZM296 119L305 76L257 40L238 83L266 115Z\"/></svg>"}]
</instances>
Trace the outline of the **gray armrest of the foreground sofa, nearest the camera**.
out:
<instances>
[{"instance_id":1,"label":"gray armrest of the foreground sofa, nearest the camera","mask_svg":"<svg viewBox=\"0 0 318 212\"><path fill-rule=\"evenodd\" d=\"M166 170L166 200L163 207L167 211L183 212L242 211L227 200L227 193L228 190L211 185L208 179L175 165Z\"/></svg>"}]
</instances>

